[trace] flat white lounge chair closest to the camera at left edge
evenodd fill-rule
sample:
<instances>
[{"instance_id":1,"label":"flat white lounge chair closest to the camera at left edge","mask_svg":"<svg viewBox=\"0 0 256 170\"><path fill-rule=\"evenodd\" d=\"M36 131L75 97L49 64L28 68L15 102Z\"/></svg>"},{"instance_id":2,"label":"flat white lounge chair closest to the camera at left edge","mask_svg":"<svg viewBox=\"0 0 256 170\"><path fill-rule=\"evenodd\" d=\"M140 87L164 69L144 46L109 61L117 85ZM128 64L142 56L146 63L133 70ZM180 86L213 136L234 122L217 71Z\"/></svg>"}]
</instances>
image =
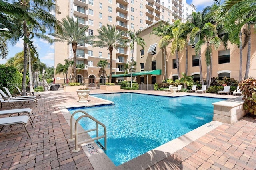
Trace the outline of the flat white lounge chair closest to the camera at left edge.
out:
<instances>
[{"instance_id":1,"label":"flat white lounge chair closest to the camera at left edge","mask_svg":"<svg viewBox=\"0 0 256 170\"><path fill-rule=\"evenodd\" d=\"M28 133L28 129L27 129L28 122L30 122L31 126L33 127L29 116L14 116L14 117L0 118L0 126L2 126L2 128L0 129L0 132L2 131L3 127L6 125L22 124L26 132ZM31 139L29 133L28 133L28 137Z\"/></svg>"}]
</instances>

